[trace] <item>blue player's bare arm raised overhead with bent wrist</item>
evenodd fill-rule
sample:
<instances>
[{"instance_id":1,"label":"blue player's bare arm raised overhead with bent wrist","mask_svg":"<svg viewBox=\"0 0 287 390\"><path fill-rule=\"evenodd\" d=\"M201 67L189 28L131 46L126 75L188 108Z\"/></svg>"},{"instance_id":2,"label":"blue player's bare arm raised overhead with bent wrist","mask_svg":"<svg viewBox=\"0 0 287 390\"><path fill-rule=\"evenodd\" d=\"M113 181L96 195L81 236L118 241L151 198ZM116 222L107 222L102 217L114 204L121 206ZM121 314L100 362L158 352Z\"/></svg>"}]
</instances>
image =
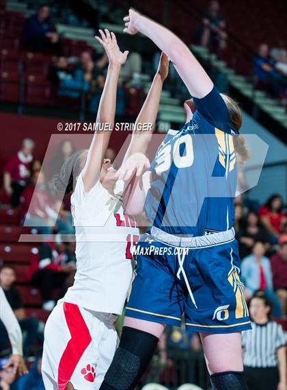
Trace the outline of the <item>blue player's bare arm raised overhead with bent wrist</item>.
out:
<instances>
[{"instance_id":1,"label":"blue player's bare arm raised overhead with bent wrist","mask_svg":"<svg viewBox=\"0 0 287 390\"><path fill-rule=\"evenodd\" d=\"M129 10L124 17L124 32L148 36L171 60L182 81L193 97L201 99L213 89L213 82L196 60L187 45L169 29L136 12Z\"/></svg>"}]
</instances>

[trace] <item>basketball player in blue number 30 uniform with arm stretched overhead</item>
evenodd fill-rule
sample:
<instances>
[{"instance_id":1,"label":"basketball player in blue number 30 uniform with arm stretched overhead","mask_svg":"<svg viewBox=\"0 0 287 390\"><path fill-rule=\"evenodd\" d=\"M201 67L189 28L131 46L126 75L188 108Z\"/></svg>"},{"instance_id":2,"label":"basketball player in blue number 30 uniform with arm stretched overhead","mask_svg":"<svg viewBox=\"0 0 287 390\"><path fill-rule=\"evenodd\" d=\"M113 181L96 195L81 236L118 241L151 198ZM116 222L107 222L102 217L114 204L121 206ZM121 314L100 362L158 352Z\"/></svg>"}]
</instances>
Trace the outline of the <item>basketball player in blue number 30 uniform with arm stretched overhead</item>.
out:
<instances>
[{"instance_id":1,"label":"basketball player in blue number 30 uniform with arm stretched overhead","mask_svg":"<svg viewBox=\"0 0 287 390\"><path fill-rule=\"evenodd\" d=\"M247 390L241 331L251 326L233 229L236 160L247 158L241 110L172 32L135 10L124 21L124 32L141 32L167 54L193 99L150 171L139 178L144 156L131 156L118 172L133 182L127 210L139 214L144 204L152 228L137 247L120 347L100 389L133 389L165 325L180 326L184 315L187 330L200 333L213 389Z\"/></svg>"}]
</instances>

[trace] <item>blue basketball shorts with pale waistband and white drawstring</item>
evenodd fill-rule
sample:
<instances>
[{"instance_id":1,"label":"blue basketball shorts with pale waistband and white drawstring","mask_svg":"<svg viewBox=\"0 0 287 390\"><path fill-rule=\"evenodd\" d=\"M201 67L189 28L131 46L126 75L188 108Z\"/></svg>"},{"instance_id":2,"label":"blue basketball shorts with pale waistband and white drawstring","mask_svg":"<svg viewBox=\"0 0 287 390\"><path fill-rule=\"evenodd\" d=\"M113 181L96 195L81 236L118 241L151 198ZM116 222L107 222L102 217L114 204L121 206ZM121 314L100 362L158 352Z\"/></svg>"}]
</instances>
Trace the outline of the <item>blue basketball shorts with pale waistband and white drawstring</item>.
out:
<instances>
[{"instance_id":1,"label":"blue basketball shorts with pale waistband and white drawstring","mask_svg":"<svg viewBox=\"0 0 287 390\"><path fill-rule=\"evenodd\" d=\"M135 249L126 316L191 332L251 329L234 230L180 238L152 228Z\"/></svg>"}]
</instances>

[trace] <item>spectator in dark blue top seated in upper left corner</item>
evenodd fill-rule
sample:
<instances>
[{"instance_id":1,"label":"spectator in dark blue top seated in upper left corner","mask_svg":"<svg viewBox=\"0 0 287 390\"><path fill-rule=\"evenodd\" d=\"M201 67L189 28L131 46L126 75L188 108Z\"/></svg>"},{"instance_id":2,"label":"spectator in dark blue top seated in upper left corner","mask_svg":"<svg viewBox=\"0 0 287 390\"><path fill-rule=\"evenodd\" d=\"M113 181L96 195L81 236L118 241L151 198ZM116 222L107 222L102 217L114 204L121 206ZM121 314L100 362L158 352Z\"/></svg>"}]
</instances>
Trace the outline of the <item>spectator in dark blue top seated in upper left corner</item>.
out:
<instances>
[{"instance_id":1,"label":"spectator in dark blue top seated in upper left corner","mask_svg":"<svg viewBox=\"0 0 287 390\"><path fill-rule=\"evenodd\" d=\"M51 21L50 7L42 4L37 14L31 16L23 29L23 44L31 51L44 51L55 56L61 55L61 41Z\"/></svg>"}]
</instances>

